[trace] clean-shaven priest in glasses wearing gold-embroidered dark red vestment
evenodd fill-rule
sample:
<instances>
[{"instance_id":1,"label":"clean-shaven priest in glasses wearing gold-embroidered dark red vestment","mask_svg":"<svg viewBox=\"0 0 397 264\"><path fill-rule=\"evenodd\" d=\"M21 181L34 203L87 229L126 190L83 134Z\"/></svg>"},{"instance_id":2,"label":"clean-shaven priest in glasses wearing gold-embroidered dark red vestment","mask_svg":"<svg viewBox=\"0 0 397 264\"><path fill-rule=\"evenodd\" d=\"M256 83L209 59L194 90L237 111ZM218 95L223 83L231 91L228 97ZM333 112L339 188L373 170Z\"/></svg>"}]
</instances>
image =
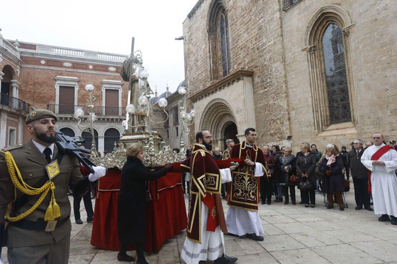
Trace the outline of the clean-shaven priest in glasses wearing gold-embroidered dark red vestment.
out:
<instances>
[{"instance_id":1,"label":"clean-shaven priest in glasses wearing gold-embroidered dark red vestment","mask_svg":"<svg viewBox=\"0 0 397 264\"><path fill-rule=\"evenodd\" d=\"M263 241L264 233L258 213L259 177L268 175L265 157L255 145L257 133L254 128L245 130L245 138L230 151L230 158L244 158L245 164L232 172L232 182L228 189L226 226L229 234Z\"/></svg>"}]
</instances>

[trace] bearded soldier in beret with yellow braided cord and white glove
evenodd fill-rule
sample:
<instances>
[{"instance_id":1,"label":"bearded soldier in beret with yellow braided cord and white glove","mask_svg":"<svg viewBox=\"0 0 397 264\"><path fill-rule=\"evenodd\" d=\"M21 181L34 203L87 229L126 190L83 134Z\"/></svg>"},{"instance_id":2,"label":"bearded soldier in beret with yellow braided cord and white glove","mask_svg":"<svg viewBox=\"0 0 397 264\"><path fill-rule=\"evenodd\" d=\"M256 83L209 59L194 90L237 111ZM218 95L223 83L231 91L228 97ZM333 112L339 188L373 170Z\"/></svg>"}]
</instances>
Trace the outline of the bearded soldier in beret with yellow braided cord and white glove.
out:
<instances>
[{"instance_id":1,"label":"bearded soldier in beret with yellow braided cord and white glove","mask_svg":"<svg viewBox=\"0 0 397 264\"><path fill-rule=\"evenodd\" d=\"M31 111L26 124L32 139L0 154L0 228L5 215L10 264L68 262L71 223L66 191L82 175L77 158L59 152L55 144L57 119L50 110ZM90 181L106 173L102 166L93 168Z\"/></svg>"}]
</instances>

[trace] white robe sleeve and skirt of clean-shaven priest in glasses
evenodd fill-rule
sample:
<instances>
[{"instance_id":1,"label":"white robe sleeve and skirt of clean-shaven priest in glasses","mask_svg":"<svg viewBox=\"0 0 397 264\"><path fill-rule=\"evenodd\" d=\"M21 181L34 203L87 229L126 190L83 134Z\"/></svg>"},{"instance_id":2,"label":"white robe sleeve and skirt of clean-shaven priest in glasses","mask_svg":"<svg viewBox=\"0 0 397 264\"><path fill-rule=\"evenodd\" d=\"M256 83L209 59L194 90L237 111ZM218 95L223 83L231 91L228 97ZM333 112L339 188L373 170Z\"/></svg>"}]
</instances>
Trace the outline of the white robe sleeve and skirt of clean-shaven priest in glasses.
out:
<instances>
[{"instance_id":1,"label":"white robe sleeve and skirt of clean-shaven priest in glasses","mask_svg":"<svg viewBox=\"0 0 397 264\"><path fill-rule=\"evenodd\" d=\"M255 162L255 177L261 177L265 170L261 163ZM243 236L245 234L264 234L261 217L258 211L229 207L226 215L227 231L231 234Z\"/></svg>"}]
</instances>

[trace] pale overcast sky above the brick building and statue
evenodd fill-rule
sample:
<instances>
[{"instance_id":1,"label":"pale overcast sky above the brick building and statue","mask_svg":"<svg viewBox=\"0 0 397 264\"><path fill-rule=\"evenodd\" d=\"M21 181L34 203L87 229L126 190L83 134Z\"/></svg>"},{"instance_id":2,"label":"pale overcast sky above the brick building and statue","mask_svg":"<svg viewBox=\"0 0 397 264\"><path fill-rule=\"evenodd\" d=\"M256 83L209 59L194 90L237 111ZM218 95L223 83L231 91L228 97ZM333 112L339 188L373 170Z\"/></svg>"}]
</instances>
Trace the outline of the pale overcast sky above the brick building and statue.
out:
<instances>
[{"instance_id":1,"label":"pale overcast sky above the brick building and statue","mask_svg":"<svg viewBox=\"0 0 397 264\"><path fill-rule=\"evenodd\" d=\"M197 0L1 1L5 39L130 54L142 52L149 84L159 95L185 78L182 23Z\"/></svg>"}]
</instances>

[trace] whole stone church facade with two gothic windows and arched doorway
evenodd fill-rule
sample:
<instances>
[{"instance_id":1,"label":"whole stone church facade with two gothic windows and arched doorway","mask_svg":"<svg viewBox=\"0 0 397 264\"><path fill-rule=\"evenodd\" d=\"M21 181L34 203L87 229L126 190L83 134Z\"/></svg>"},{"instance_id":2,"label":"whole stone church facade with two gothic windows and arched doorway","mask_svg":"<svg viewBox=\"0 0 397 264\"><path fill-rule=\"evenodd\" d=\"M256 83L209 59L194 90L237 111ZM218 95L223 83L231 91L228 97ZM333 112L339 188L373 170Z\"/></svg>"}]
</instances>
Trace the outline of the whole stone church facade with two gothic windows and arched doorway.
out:
<instances>
[{"instance_id":1,"label":"whole stone church facade with two gothic windows and arched doorway","mask_svg":"<svg viewBox=\"0 0 397 264\"><path fill-rule=\"evenodd\" d=\"M382 0L199 0L183 23L195 130L222 149L247 127L295 152L396 139L396 13Z\"/></svg>"}]
</instances>

